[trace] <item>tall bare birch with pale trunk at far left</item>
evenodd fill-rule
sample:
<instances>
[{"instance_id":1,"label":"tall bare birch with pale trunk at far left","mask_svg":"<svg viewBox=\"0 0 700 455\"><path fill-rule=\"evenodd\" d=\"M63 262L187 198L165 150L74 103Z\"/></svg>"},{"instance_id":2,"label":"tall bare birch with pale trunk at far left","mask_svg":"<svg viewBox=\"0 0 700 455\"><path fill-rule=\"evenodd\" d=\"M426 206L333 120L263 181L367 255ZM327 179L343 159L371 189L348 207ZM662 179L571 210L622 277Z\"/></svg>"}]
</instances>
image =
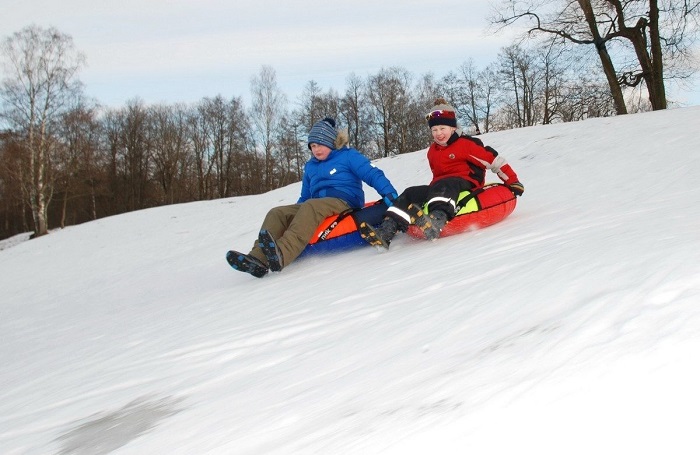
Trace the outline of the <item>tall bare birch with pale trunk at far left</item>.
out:
<instances>
[{"instance_id":1,"label":"tall bare birch with pale trunk at far left","mask_svg":"<svg viewBox=\"0 0 700 455\"><path fill-rule=\"evenodd\" d=\"M23 185L34 218L34 235L48 233L48 207L53 196L53 128L82 90L77 74L84 63L73 39L55 28L26 27L2 42L5 74L0 97L4 118L24 136L26 170Z\"/></svg>"}]
</instances>

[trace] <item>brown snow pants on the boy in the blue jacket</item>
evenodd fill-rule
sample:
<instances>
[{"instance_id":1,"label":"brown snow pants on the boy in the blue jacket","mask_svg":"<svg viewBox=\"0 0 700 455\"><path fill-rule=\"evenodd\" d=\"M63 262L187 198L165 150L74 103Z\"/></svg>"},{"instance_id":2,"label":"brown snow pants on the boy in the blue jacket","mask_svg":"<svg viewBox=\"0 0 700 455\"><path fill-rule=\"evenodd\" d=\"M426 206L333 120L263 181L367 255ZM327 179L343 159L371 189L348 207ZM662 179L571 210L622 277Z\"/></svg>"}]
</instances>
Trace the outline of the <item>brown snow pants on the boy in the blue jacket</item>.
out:
<instances>
[{"instance_id":1,"label":"brown snow pants on the boy in the blue jacket","mask_svg":"<svg viewBox=\"0 0 700 455\"><path fill-rule=\"evenodd\" d=\"M326 217L349 209L348 203L334 197L308 199L301 204L282 205L267 212L260 229L267 229L282 253L282 267L296 259L309 243L318 225ZM255 241L250 255L267 264L267 258Z\"/></svg>"}]
</instances>

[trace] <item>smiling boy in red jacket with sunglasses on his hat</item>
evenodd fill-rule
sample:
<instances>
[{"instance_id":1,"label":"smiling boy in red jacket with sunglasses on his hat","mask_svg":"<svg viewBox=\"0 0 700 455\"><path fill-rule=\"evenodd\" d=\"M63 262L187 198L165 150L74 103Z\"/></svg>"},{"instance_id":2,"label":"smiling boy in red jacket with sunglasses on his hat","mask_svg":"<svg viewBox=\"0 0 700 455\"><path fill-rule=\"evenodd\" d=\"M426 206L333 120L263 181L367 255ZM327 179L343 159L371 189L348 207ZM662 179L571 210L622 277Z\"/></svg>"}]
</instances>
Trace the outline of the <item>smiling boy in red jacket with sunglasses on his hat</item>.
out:
<instances>
[{"instance_id":1,"label":"smiling boy in red jacket with sunglasses on his hat","mask_svg":"<svg viewBox=\"0 0 700 455\"><path fill-rule=\"evenodd\" d=\"M433 180L429 185L406 188L389 207L378 228L367 223L360 225L362 238L372 245L389 248L396 232L406 232L410 224L418 226L427 239L437 239L445 224L455 216L459 194L484 186L486 169L498 175L513 194L523 194L525 188L515 171L496 150L484 147L477 138L458 133L455 109L447 101L435 100L435 106L425 118L433 135L428 149ZM421 210L426 203L427 215Z\"/></svg>"}]
</instances>

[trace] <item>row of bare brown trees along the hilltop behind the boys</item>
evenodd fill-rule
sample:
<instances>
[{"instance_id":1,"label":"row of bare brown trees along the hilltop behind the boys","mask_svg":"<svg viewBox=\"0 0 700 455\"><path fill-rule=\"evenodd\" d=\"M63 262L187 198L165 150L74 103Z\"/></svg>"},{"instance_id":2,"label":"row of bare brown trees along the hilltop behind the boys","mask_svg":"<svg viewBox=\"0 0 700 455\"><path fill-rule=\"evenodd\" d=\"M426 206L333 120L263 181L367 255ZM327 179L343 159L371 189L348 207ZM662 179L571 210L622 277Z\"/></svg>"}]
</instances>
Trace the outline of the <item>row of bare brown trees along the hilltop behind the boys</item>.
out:
<instances>
[{"instance_id":1,"label":"row of bare brown trees along the hilltop behind the boys","mask_svg":"<svg viewBox=\"0 0 700 455\"><path fill-rule=\"evenodd\" d=\"M219 95L189 105L134 99L103 108L73 91L42 124L45 143L35 147L44 151L42 173L28 171L35 154L20 122L8 122L0 134L0 237L36 229L30 202L37 186L44 224L55 228L290 184L309 157L307 132L324 116L336 118L351 145L375 159L427 147L424 115L437 96L450 100L472 134L614 115L605 80L585 62L551 47L512 46L484 69L467 61L440 78L384 68L364 78L350 74L342 93L312 80L292 102L275 70L263 67L251 81L249 106ZM9 119L15 111L5 106Z\"/></svg>"}]
</instances>

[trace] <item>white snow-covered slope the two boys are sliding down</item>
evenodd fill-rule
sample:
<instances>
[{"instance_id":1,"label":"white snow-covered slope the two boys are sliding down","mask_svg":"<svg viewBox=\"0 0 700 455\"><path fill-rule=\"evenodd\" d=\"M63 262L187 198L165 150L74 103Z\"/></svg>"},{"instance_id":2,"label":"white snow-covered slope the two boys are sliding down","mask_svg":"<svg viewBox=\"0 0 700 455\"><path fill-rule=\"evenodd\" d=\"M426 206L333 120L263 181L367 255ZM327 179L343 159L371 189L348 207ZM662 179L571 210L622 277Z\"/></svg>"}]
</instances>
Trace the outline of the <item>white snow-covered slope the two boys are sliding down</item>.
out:
<instances>
[{"instance_id":1,"label":"white snow-covered slope the two boys are sliding down","mask_svg":"<svg viewBox=\"0 0 700 455\"><path fill-rule=\"evenodd\" d=\"M299 184L0 248L0 453L700 453L699 121L486 134L503 222L262 280L224 255Z\"/></svg>"}]
</instances>

